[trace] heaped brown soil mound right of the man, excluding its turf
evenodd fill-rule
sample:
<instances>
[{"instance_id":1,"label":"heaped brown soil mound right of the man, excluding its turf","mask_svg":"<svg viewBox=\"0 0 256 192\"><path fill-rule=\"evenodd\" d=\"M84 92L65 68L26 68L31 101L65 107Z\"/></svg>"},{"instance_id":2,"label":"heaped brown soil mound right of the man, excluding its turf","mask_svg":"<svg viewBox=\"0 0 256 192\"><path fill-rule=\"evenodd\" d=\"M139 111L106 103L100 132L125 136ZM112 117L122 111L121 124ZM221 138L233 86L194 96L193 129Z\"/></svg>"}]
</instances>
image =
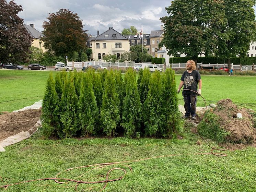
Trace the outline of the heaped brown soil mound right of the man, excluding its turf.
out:
<instances>
[{"instance_id":1,"label":"heaped brown soil mound right of the man, excluding its turf","mask_svg":"<svg viewBox=\"0 0 256 192\"><path fill-rule=\"evenodd\" d=\"M233 143L256 143L256 129L253 127L254 111L245 108L237 108L231 99L222 99L212 111L221 117L221 127L230 132L227 140ZM242 113L242 119L237 118L237 113Z\"/></svg>"}]
</instances>

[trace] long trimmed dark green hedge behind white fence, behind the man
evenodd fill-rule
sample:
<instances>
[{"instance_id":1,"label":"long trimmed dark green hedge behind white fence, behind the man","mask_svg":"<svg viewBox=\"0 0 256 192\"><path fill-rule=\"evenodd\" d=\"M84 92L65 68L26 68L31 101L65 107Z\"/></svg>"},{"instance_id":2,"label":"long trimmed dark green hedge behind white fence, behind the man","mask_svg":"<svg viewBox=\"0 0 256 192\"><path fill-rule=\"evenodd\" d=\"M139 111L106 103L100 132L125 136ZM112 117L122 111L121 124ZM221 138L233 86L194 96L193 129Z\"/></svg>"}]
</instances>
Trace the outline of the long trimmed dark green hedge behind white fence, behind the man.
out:
<instances>
[{"instance_id":1,"label":"long trimmed dark green hedge behind white fence, behind the man","mask_svg":"<svg viewBox=\"0 0 256 192\"><path fill-rule=\"evenodd\" d=\"M156 58L152 58L156 59ZM191 59L190 57L171 57L170 63L186 63L187 60ZM213 64L213 63L227 63L226 58L222 57L198 57L197 63L203 64ZM240 63L242 65L252 65L253 63L256 63L256 57L245 57L245 58L230 58L230 62L234 65L239 65Z\"/></svg>"}]
</instances>

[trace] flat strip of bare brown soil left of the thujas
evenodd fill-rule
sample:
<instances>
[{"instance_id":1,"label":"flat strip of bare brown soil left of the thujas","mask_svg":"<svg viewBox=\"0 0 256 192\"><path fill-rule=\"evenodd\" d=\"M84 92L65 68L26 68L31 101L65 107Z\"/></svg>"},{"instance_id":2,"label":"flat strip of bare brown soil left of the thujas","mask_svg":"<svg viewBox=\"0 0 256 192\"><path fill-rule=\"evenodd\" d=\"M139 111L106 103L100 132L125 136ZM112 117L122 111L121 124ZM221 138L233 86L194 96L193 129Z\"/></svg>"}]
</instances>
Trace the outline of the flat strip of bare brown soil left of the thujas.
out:
<instances>
[{"instance_id":1,"label":"flat strip of bare brown soil left of the thujas","mask_svg":"<svg viewBox=\"0 0 256 192\"><path fill-rule=\"evenodd\" d=\"M40 109L7 112L0 115L0 141L21 131L28 131L40 119Z\"/></svg>"}]
</instances>

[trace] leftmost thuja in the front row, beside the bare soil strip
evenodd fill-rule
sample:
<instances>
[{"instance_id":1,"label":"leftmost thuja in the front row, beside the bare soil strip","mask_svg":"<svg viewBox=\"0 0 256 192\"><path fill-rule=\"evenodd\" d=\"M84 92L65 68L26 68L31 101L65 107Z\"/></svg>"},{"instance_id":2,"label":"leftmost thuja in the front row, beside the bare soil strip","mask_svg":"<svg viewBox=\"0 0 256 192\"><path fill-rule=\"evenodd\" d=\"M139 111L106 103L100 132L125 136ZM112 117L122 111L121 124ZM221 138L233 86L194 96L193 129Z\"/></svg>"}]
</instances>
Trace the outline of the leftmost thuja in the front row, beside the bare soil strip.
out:
<instances>
[{"instance_id":1,"label":"leftmost thuja in the front row, beside the bare soil strip","mask_svg":"<svg viewBox=\"0 0 256 192\"><path fill-rule=\"evenodd\" d=\"M53 75L51 73L46 80L41 119L43 134L45 136L60 136L59 98L55 90L55 83L53 80Z\"/></svg>"}]
</instances>

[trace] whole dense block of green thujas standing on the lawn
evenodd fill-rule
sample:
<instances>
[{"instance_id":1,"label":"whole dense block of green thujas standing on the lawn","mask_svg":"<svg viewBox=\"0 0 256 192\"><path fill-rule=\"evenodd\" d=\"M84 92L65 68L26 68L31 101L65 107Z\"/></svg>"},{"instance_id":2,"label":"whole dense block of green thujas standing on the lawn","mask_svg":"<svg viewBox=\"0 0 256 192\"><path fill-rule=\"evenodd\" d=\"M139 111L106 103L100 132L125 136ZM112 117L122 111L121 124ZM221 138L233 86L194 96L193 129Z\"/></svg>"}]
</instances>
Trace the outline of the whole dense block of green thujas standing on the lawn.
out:
<instances>
[{"instance_id":1,"label":"whole dense block of green thujas standing on the lawn","mask_svg":"<svg viewBox=\"0 0 256 192\"><path fill-rule=\"evenodd\" d=\"M152 75L149 69L66 72L46 81L42 107L45 136L172 137L180 127L180 114L171 69Z\"/></svg>"}]
</instances>

